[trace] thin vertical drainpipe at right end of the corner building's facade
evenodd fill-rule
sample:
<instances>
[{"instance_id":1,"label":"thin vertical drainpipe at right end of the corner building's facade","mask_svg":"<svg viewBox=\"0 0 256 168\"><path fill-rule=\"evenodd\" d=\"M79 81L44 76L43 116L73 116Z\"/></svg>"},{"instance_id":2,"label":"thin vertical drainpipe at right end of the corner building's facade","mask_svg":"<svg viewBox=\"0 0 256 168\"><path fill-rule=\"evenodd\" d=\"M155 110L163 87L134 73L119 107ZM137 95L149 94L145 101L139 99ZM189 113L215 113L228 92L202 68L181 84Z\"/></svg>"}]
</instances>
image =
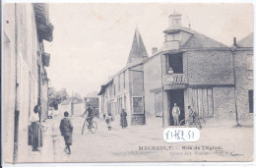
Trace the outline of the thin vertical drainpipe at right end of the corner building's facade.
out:
<instances>
[{"instance_id":1,"label":"thin vertical drainpipe at right end of the corner building's facade","mask_svg":"<svg viewBox=\"0 0 256 168\"><path fill-rule=\"evenodd\" d=\"M233 82L234 82L234 110L235 110L235 120L236 120L236 127L241 126L238 120L238 112L237 112L237 102L236 102L236 76L235 76L235 48L236 48L236 37L233 37L233 47L231 48L232 51L232 68L233 68Z\"/></svg>"}]
</instances>

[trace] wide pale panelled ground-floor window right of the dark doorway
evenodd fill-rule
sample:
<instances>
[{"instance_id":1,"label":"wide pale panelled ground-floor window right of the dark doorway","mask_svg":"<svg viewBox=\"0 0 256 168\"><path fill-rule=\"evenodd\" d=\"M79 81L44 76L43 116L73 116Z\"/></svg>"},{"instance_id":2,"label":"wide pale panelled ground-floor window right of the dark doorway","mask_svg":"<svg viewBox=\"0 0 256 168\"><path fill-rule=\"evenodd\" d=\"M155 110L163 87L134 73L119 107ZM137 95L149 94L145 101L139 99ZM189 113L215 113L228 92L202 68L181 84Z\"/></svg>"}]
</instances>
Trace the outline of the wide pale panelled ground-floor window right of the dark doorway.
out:
<instances>
[{"instance_id":1,"label":"wide pale panelled ground-floor window right of the dark doorway","mask_svg":"<svg viewBox=\"0 0 256 168\"><path fill-rule=\"evenodd\" d=\"M199 116L213 116L213 88L193 89L192 107L196 109Z\"/></svg>"}]
</instances>

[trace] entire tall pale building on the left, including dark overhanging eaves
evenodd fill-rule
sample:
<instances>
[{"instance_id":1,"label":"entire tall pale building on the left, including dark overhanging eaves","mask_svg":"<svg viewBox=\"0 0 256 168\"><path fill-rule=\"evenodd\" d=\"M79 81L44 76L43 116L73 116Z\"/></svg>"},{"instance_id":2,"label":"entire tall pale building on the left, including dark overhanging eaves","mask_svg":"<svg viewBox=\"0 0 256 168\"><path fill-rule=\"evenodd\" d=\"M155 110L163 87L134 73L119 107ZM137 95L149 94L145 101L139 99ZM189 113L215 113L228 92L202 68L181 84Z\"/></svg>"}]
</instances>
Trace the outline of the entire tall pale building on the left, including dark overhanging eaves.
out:
<instances>
[{"instance_id":1,"label":"entire tall pale building on the left, including dark overhanging eaves","mask_svg":"<svg viewBox=\"0 0 256 168\"><path fill-rule=\"evenodd\" d=\"M47 83L45 68L49 54L43 40L52 41L53 27L45 4L6 3L3 11L3 118L4 161L17 162L32 152L28 145L28 125L33 107L42 106L40 121L46 116ZM44 95L44 96L43 96ZM19 157L18 157L19 156Z\"/></svg>"}]
</instances>

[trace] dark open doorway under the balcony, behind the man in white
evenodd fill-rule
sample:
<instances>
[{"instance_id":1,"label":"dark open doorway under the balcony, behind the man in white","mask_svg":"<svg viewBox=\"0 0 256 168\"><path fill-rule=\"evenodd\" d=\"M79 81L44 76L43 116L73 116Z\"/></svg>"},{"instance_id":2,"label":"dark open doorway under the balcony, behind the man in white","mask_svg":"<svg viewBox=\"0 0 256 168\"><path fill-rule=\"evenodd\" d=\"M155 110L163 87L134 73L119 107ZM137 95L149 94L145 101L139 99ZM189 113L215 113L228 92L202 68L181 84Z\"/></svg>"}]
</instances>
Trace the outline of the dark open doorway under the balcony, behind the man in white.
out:
<instances>
[{"instance_id":1,"label":"dark open doorway under the balcony, behind the man in white","mask_svg":"<svg viewBox=\"0 0 256 168\"><path fill-rule=\"evenodd\" d=\"M168 91L168 103L169 103L169 126L174 125L173 116L172 116L172 108L174 103L180 109L179 122L185 118L185 109L184 109L184 89L171 89Z\"/></svg>"}]
</instances>

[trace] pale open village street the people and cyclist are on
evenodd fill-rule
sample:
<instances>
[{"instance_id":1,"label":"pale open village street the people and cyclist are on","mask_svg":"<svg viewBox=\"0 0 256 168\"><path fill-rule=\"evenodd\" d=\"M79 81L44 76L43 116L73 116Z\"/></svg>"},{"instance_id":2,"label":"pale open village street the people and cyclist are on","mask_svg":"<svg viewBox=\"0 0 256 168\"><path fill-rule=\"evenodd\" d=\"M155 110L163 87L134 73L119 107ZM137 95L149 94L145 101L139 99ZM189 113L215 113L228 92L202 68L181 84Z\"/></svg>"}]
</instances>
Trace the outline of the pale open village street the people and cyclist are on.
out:
<instances>
[{"instance_id":1,"label":"pale open village street the people and cyclist are on","mask_svg":"<svg viewBox=\"0 0 256 168\"><path fill-rule=\"evenodd\" d=\"M107 131L103 119L96 118L98 126L96 134L86 130L84 135L81 135L84 121L81 117L71 117L74 125L72 153L66 154L64 140L58 129L61 118L60 115L54 116L53 119L42 123L43 146L41 151L30 153L29 162L189 161L192 158L198 161L206 159L238 161L249 156L253 157L251 127L217 129L211 126L201 131L198 142L167 143L162 140L164 128L132 126L121 129L118 126L118 118L113 122L111 131ZM243 137L244 135L248 137ZM240 141L240 145L237 145L237 141ZM140 146L144 149L140 150ZM145 146L148 149L145 149ZM153 150L152 146L156 149ZM196 146L201 148L195 150Z\"/></svg>"}]
</instances>

